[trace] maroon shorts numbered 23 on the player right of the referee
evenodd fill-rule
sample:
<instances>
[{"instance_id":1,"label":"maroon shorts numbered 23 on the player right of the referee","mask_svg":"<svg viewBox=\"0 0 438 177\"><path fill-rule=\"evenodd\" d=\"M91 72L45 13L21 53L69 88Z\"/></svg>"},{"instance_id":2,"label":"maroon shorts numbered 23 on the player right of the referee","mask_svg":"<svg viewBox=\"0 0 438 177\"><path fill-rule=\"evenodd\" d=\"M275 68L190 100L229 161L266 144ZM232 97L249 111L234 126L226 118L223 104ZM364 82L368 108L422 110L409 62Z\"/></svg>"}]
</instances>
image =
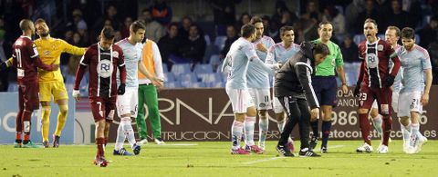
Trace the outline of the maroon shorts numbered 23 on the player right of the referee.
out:
<instances>
[{"instance_id":1,"label":"maroon shorts numbered 23 on the player right of the referee","mask_svg":"<svg viewBox=\"0 0 438 177\"><path fill-rule=\"evenodd\" d=\"M369 110L374 100L377 100L379 105L379 113L391 115L392 91L390 87L371 88L362 85L360 87L359 108Z\"/></svg>"}]
</instances>

